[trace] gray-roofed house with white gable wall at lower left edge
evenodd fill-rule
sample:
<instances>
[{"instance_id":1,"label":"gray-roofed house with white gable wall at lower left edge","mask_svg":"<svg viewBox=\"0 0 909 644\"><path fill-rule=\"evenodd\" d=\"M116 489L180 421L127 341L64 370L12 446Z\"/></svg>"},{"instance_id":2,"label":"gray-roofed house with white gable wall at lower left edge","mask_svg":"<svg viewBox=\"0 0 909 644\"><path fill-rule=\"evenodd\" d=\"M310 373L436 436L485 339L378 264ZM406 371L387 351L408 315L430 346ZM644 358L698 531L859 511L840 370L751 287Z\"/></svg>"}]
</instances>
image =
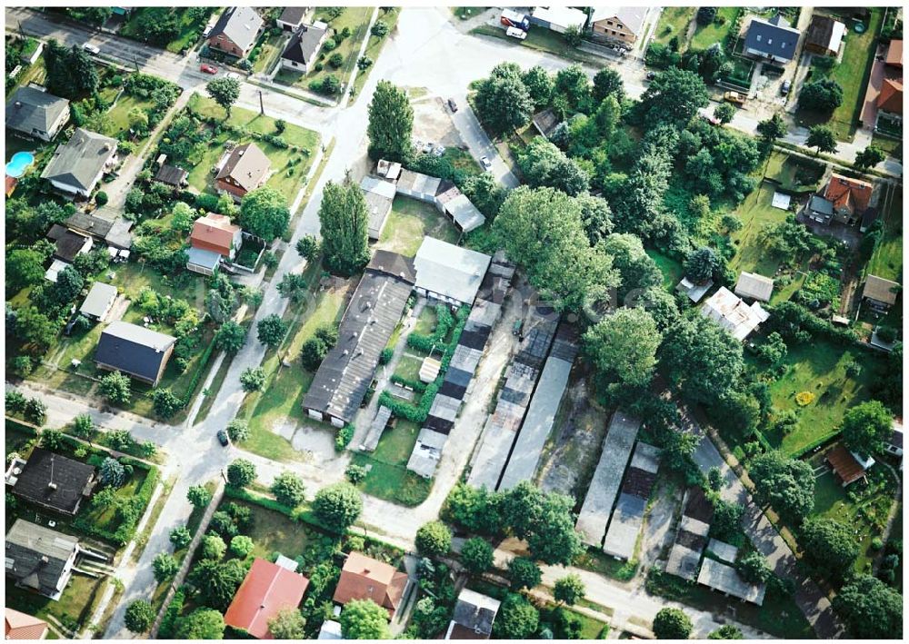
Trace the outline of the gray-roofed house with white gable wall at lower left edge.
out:
<instances>
[{"instance_id":1,"label":"gray-roofed house with white gable wall at lower left edge","mask_svg":"<svg viewBox=\"0 0 909 644\"><path fill-rule=\"evenodd\" d=\"M16 519L6 533L6 578L19 588L60 599L78 553L75 537Z\"/></svg>"}]
</instances>

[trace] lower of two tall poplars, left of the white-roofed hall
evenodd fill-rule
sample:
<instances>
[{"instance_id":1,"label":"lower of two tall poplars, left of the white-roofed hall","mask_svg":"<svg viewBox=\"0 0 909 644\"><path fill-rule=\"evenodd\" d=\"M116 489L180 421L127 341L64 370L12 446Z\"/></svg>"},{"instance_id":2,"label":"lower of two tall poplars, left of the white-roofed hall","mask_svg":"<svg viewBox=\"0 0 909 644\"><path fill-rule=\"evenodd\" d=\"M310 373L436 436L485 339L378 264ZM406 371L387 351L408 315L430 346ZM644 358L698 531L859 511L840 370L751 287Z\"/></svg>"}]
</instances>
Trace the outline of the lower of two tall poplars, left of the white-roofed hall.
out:
<instances>
[{"instance_id":1,"label":"lower of two tall poplars, left of the white-roofed hall","mask_svg":"<svg viewBox=\"0 0 909 644\"><path fill-rule=\"evenodd\" d=\"M319 206L322 251L332 272L353 275L369 262L369 212L354 183L325 183Z\"/></svg>"}]
</instances>

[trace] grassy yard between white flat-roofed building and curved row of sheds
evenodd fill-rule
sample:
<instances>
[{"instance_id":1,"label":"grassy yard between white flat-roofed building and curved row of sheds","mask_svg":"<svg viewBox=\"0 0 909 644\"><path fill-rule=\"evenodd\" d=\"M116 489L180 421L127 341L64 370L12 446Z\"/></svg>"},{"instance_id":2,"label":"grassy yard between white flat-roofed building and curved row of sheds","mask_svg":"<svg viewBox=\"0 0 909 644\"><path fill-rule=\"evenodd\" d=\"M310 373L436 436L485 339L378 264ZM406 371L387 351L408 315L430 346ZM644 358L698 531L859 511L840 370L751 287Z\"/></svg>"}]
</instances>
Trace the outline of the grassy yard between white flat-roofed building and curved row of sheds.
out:
<instances>
[{"instance_id":1,"label":"grassy yard between white flat-roofed building and curved row of sheds","mask_svg":"<svg viewBox=\"0 0 909 644\"><path fill-rule=\"evenodd\" d=\"M426 235L449 243L457 243L458 239L454 224L435 206L410 197L396 196L376 247L414 257Z\"/></svg>"}]
</instances>

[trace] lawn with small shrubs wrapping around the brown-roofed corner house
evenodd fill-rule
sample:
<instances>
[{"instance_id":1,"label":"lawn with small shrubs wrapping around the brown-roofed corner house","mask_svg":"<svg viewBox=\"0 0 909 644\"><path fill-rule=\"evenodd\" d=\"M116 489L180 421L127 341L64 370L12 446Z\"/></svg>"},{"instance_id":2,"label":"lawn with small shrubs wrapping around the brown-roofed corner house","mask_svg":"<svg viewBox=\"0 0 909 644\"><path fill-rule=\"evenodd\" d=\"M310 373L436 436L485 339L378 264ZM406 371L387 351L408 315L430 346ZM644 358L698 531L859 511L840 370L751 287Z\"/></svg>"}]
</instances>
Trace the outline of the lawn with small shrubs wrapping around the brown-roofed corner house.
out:
<instances>
[{"instance_id":1,"label":"lawn with small shrubs wrapping around the brown-roofed corner house","mask_svg":"<svg viewBox=\"0 0 909 644\"><path fill-rule=\"evenodd\" d=\"M276 119L240 107L233 108L225 119L223 108L199 94L189 99L187 109L206 122L189 135L197 139L192 150L187 151L184 159L175 159L189 170L187 179L191 186L199 192L215 193L212 168L225 153L225 143L233 141L239 145L252 141L271 162L271 174L265 184L284 194L287 203L294 203L319 144L317 133L293 124L282 124L284 130L279 130ZM218 128L221 124L226 127ZM276 144L279 140L286 147Z\"/></svg>"}]
</instances>

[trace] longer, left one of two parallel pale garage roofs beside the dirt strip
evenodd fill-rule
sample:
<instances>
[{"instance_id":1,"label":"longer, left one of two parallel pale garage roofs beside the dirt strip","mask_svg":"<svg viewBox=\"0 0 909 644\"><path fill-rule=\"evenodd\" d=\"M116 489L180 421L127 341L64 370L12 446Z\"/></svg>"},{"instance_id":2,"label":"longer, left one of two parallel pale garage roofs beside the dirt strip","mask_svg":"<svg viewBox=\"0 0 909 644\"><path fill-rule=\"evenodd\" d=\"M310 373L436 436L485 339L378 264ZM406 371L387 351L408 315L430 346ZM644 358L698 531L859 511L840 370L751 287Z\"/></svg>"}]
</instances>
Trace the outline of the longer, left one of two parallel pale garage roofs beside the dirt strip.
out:
<instances>
[{"instance_id":1,"label":"longer, left one of two parallel pale garage roofs beside the dirt strip","mask_svg":"<svg viewBox=\"0 0 909 644\"><path fill-rule=\"evenodd\" d=\"M600 461L596 465L594 478L590 481L590 488L575 524L581 533L581 540L588 545L600 547L609 513L622 482L622 473L628 464L634 438L640 427L641 421L626 415L624 411L615 411L609 423Z\"/></svg>"}]
</instances>

